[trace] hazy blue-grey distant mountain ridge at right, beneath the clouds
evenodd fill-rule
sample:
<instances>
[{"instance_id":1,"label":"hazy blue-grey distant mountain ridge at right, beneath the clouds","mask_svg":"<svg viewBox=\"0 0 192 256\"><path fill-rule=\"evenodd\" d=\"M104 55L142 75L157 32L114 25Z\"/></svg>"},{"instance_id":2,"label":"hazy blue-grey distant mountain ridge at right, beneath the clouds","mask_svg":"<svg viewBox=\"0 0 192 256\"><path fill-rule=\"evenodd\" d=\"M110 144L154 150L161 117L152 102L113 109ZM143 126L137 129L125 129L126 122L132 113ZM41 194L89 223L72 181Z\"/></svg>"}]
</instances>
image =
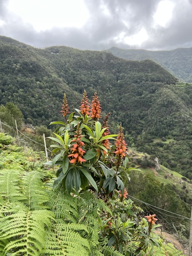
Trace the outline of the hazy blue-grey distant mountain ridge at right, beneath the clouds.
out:
<instances>
[{"instance_id":1,"label":"hazy blue-grey distant mountain ridge at right, beneath the clouds","mask_svg":"<svg viewBox=\"0 0 192 256\"><path fill-rule=\"evenodd\" d=\"M106 52L126 60L150 59L185 82L192 82L192 48L172 51L125 50L112 47Z\"/></svg>"}]
</instances>

